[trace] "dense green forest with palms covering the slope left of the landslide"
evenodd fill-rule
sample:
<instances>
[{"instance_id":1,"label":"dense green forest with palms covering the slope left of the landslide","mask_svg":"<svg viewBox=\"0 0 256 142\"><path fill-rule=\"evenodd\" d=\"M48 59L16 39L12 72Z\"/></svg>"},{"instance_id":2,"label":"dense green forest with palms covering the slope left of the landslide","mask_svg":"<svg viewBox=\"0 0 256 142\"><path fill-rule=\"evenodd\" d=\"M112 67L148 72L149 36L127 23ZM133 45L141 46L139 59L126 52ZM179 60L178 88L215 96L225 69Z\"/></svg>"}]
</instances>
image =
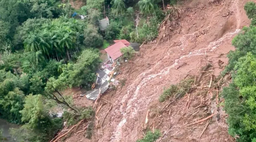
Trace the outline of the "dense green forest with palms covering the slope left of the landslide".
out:
<instances>
[{"instance_id":1,"label":"dense green forest with palms covering the slope left of the landslide","mask_svg":"<svg viewBox=\"0 0 256 142\"><path fill-rule=\"evenodd\" d=\"M99 49L114 39L154 39L168 13L161 9L163 2L170 3L87 0L81 9L73 9L69 1L0 0L0 117L22 124L12 135L45 142L64 121L72 125L89 119L92 108L76 107L63 91L91 86L101 63ZM82 20L74 12L87 17ZM106 16L110 25L102 32L99 20ZM64 111L61 118L52 111L56 107Z\"/></svg>"}]
</instances>

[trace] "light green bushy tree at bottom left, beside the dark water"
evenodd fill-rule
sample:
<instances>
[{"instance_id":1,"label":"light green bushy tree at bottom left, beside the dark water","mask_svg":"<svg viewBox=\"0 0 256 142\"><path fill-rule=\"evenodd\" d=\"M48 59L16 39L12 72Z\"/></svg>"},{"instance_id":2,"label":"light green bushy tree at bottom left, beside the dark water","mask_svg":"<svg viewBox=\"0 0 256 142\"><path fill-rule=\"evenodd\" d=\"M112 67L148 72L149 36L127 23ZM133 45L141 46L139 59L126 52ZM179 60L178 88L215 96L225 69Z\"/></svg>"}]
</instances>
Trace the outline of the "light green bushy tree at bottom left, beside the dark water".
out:
<instances>
[{"instance_id":1,"label":"light green bushy tree at bottom left, beside the dark water","mask_svg":"<svg viewBox=\"0 0 256 142\"><path fill-rule=\"evenodd\" d=\"M20 111L22 121L26 124L20 129L13 129L11 134L24 141L49 141L60 129L62 120L51 118L48 109L42 95L28 95L24 109Z\"/></svg>"}]
</instances>

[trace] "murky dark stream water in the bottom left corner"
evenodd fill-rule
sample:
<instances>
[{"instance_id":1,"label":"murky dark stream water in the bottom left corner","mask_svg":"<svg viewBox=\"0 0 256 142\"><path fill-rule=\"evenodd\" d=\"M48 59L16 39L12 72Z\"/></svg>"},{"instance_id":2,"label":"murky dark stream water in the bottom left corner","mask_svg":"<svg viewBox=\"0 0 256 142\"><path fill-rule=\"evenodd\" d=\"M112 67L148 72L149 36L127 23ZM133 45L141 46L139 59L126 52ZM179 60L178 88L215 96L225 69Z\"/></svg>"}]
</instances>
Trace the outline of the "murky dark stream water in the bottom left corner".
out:
<instances>
[{"instance_id":1,"label":"murky dark stream water in the bottom left corner","mask_svg":"<svg viewBox=\"0 0 256 142\"><path fill-rule=\"evenodd\" d=\"M17 128L17 127L19 127L19 125L9 123L4 119L0 119L0 130L2 130L2 136L4 137L4 142L15 142L14 138L12 138L9 133L9 129Z\"/></svg>"}]
</instances>

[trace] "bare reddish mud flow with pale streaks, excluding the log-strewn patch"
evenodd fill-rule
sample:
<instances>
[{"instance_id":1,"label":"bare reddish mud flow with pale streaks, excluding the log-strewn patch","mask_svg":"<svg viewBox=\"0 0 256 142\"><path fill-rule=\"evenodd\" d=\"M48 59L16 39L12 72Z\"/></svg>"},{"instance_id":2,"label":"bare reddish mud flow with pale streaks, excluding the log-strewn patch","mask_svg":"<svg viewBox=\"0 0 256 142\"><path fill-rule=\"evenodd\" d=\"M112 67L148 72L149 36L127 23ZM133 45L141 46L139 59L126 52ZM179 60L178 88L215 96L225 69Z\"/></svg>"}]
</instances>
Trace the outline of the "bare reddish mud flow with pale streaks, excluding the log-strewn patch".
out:
<instances>
[{"instance_id":1,"label":"bare reddish mud flow with pale streaks, excluding the log-strewn patch","mask_svg":"<svg viewBox=\"0 0 256 142\"><path fill-rule=\"evenodd\" d=\"M242 26L249 25L250 22L243 9L246 2L247 0L222 0L211 4L208 0L183 1L179 26L174 27L169 43L168 37L164 37L150 54L148 53L156 43L142 46L140 55L132 61L131 73L128 70L132 63L128 63L123 73L117 76L118 79L127 79L125 86L119 88L111 99L109 97L114 92L104 96L114 103L114 107L106 117L102 131L95 128L90 140L80 134L73 135L67 141L134 142L141 138L143 134L140 127L146 112L161 105L158 97L164 87L179 82L188 72L198 71L205 65L205 54L212 62L216 75L223 69L218 61L227 64L226 54L234 49L231 45L232 38ZM176 69L183 63L187 64ZM100 121L111 105L112 103L108 103L100 110ZM174 123L172 130L162 141L198 141L205 125L184 131L177 124L178 111L179 108L173 108L174 115L164 119L159 126L164 131L170 122ZM182 122L180 123L182 126ZM210 123L208 128L201 141L233 141L228 136L224 113L219 122Z\"/></svg>"}]
</instances>

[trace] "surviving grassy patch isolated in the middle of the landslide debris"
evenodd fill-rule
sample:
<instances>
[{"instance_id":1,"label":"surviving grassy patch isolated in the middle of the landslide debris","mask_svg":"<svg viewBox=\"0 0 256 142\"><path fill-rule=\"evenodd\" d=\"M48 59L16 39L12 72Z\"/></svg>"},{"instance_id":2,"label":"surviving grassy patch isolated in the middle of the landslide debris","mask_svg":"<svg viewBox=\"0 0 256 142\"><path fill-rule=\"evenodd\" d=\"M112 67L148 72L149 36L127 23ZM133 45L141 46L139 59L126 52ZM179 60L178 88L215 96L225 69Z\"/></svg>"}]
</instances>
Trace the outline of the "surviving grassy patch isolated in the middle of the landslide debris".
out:
<instances>
[{"instance_id":1,"label":"surviving grassy patch isolated in the middle of the landslide debris","mask_svg":"<svg viewBox=\"0 0 256 142\"><path fill-rule=\"evenodd\" d=\"M171 85L168 89L164 89L164 92L160 95L159 101L164 102L170 97L180 98L191 90L195 79L187 78L180 81L178 84Z\"/></svg>"}]
</instances>

